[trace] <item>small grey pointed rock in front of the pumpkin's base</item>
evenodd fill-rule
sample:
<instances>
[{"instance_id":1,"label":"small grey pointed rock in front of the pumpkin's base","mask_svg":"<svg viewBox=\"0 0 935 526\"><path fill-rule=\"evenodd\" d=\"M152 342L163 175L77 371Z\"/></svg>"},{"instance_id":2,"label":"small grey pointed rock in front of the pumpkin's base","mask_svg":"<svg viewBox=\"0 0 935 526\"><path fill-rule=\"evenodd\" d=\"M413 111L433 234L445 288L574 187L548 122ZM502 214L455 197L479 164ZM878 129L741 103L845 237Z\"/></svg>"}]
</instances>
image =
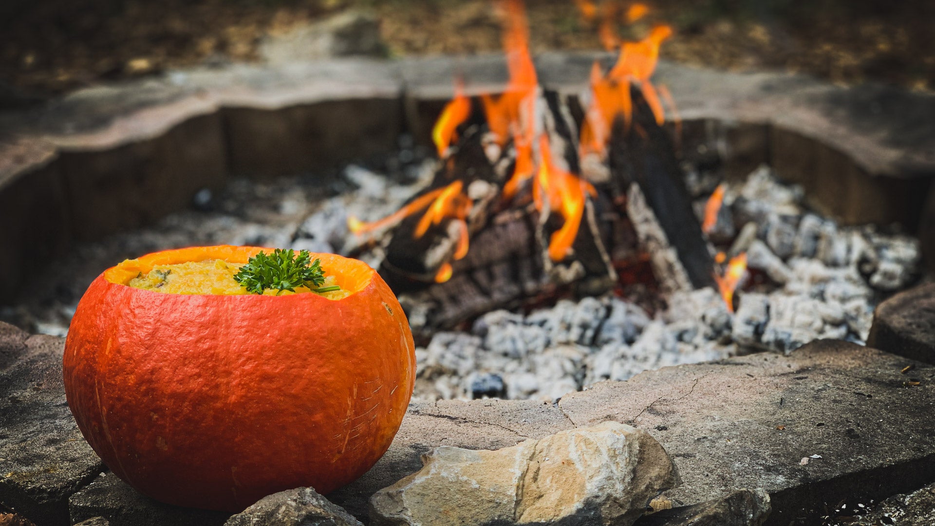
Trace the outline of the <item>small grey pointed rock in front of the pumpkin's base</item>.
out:
<instances>
[{"instance_id":1,"label":"small grey pointed rock in front of the pumpkin's base","mask_svg":"<svg viewBox=\"0 0 935 526\"><path fill-rule=\"evenodd\" d=\"M311 488L268 495L227 519L224 526L363 526Z\"/></svg>"}]
</instances>

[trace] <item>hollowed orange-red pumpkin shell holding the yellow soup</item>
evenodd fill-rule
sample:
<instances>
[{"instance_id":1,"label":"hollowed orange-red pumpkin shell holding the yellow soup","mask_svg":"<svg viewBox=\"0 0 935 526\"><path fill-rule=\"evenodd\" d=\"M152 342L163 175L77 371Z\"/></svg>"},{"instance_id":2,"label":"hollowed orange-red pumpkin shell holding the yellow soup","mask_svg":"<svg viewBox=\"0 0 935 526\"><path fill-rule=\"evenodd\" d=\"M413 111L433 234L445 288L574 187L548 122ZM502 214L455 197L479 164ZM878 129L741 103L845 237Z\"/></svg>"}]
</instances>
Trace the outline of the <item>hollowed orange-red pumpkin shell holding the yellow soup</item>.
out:
<instances>
[{"instance_id":1,"label":"hollowed orange-red pumpkin shell holding the yellow soup","mask_svg":"<svg viewBox=\"0 0 935 526\"><path fill-rule=\"evenodd\" d=\"M380 459L410 401L406 315L367 264L313 254L342 300L180 295L123 285L153 265L246 262L258 247L194 247L105 270L65 341L65 395L114 474L159 501L237 512L337 489Z\"/></svg>"}]
</instances>

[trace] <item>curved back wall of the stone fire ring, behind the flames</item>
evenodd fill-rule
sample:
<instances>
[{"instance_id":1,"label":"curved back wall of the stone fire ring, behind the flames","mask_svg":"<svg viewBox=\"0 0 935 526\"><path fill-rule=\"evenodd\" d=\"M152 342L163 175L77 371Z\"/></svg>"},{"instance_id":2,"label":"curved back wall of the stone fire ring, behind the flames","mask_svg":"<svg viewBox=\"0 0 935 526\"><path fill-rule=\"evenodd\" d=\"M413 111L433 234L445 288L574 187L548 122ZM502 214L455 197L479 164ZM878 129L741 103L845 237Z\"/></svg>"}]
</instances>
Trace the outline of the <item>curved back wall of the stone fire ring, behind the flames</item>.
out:
<instances>
[{"instance_id":1,"label":"curved back wall of the stone fire ring, behind the flames","mask_svg":"<svg viewBox=\"0 0 935 526\"><path fill-rule=\"evenodd\" d=\"M579 93L594 60L612 57L543 53L540 82ZM469 94L507 80L498 54L236 65L0 113L0 304L22 290L36 257L150 223L202 188L364 160L395 151L401 133L431 144L456 74ZM716 161L728 178L768 163L802 184L818 212L843 224L900 224L935 247L935 95L667 63L655 79L679 107L687 159Z\"/></svg>"}]
</instances>

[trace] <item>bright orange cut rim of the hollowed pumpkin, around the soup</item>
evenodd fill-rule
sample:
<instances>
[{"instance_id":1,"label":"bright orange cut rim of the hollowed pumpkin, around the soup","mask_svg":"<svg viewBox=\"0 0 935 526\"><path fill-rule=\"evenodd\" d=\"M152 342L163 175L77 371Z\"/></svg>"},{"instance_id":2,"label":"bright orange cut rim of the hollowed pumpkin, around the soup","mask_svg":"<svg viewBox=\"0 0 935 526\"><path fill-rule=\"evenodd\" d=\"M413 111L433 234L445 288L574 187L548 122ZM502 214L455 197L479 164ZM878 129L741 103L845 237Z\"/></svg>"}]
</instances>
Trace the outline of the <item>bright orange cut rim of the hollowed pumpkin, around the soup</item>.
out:
<instances>
[{"instance_id":1,"label":"bright orange cut rim of the hollowed pumpkin, around the soup","mask_svg":"<svg viewBox=\"0 0 935 526\"><path fill-rule=\"evenodd\" d=\"M213 246L191 246L184 248L172 248L152 252L144 256L133 259L124 259L122 262L110 267L101 274L105 281L110 285L125 286L134 288L141 292L150 292L152 294L168 294L170 296L211 296L211 297L229 297L229 298L290 298L291 296L267 296L262 294L180 294L165 293L145 288L137 288L127 285L130 280L136 278L140 273L149 273L158 265L177 265L180 263L200 262L209 259L221 259L227 263L247 263L248 259L256 256L261 251L273 252L273 248L258 246L238 246L238 245L213 245ZM376 270L373 270L367 263L351 257L339 256L328 253L309 253L312 260L321 259L322 268L328 275L335 276L338 286L347 290L350 294L339 300L331 300L318 294L299 294L293 296L318 297L326 301L347 300L357 293L365 290L373 282L373 276Z\"/></svg>"}]
</instances>

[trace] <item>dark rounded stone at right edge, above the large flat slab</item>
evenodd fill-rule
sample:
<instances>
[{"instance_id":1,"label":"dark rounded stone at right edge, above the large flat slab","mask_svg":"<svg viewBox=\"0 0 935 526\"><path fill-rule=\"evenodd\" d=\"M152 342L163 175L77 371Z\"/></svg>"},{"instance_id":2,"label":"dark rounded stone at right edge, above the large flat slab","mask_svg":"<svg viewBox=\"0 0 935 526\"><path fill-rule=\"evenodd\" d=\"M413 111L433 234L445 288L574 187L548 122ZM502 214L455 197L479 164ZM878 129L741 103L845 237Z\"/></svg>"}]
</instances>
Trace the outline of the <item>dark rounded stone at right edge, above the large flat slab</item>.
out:
<instances>
[{"instance_id":1,"label":"dark rounded stone at right edge, above the large flat slab","mask_svg":"<svg viewBox=\"0 0 935 526\"><path fill-rule=\"evenodd\" d=\"M935 284L900 292L877 305L867 344L935 363Z\"/></svg>"}]
</instances>

